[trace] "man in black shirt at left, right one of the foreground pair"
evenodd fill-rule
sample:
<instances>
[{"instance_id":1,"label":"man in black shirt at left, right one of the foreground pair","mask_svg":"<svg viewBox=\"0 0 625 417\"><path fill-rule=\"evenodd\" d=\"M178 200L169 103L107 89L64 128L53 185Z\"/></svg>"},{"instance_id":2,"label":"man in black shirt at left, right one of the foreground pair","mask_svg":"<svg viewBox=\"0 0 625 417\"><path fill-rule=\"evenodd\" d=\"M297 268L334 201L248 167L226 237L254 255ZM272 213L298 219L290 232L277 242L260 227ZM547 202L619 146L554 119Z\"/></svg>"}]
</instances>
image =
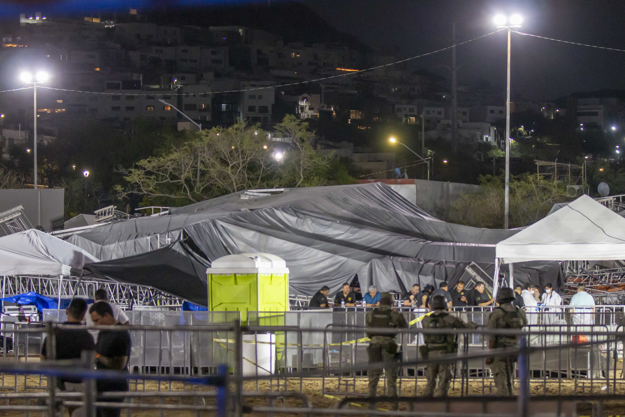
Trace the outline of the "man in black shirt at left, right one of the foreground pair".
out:
<instances>
[{"instance_id":1,"label":"man in black shirt at left, right one of the foreground pair","mask_svg":"<svg viewBox=\"0 0 625 417\"><path fill-rule=\"evenodd\" d=\"M113 317L113 309L108 303L99 301L89 308L89 314L96 326L120 326L120 330L101 330L96 343L98 361L96 368L111 369L128 372L128 358L130 357L131 341L128 330L123 329L123 324ZM128 391L128 379L98 379L96 383L98 392ZM121 403L123 398L108 398L107 401ZM119 417L119 408L99 408L96 410L98 417Z\"/></svg>"}]
</instances>

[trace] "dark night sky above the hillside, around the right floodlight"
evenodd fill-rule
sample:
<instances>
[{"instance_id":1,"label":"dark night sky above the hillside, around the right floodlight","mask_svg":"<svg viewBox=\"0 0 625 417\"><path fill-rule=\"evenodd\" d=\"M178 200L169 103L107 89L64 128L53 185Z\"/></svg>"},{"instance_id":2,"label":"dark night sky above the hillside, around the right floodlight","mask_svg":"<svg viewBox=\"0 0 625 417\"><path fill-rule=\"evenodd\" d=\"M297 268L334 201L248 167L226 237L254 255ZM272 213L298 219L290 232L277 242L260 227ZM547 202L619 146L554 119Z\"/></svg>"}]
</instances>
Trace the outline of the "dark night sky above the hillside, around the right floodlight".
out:
<instances>
[{"instance_id":1,"label":"dark night sky above the hillside, around the right floodlight","mask_svg":"<svg viewBox=\"0 0 625 417\"><path fill-rule=\"evenodd\" d=\"M451 21L458 41L494 30L497 13L519 13L526 33L565 41L625 49L625 1L601 0L306 0L339 31L357 36L374 49L399 47L405 56L447 46ZM506 34L459 46L459 84L479 78L493 88L506 82ZM451 52L418 58L426 68L451 78L439 64ZM567 45L512 34L512 91L516 99L554 99L574 92L625 89L625 52Z\"/></svg>"}]
</instances>

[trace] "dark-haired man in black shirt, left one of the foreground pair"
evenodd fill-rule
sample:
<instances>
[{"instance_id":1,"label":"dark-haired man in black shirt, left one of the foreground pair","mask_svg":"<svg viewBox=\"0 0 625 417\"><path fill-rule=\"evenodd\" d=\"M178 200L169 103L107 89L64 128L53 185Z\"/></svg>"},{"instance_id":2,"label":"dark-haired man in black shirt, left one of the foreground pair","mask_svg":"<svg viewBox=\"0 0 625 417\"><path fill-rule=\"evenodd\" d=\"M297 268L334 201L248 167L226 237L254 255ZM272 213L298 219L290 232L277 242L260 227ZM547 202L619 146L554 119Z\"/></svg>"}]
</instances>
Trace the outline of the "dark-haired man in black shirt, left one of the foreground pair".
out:
<instances>
[{"instance_id":1,"label":"dark-haired man in black shirt, left one of the foreground pair","mask_svg":"<svg viewBox=\"0 0 625 417\"><path fill-rule=\"evenodd\" d=\"M84 326L81 325L84 314L87 311L87 303L82 298L74 298L69 307L65 309L67 314L67 321L63 327L56 330L54 339L54 351L56 355L54 358L49 357L47 354L47 343L44 340L41 347L41 360L51 359L80 359L81 352L86 350L94 350L93 337ZM84 392L84 386L82 384L83 379L72 376L59 376L56 380L59 388L63 391L78 391ZM69 408L68 411L71 415L74 408Z\"/></svg>"}]
</instances>

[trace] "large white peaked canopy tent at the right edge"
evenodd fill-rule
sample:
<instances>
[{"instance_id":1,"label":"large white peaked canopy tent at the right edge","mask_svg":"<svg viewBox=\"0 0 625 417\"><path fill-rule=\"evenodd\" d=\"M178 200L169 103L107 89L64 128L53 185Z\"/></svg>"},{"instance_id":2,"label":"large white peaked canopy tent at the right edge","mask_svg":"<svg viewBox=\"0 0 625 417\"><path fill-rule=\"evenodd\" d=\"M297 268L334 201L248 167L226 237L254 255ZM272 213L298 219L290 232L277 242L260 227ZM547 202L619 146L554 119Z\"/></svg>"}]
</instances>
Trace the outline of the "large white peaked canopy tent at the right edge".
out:
<instances>
[{"instance_id":1,"label":"large white peaked canopy tent at the right edge","mask_svg":"<svg viewBox=\"0 0 625 417\"><path fill-rule=\"evenodd\" d=\"M499 263L606 261L625 259L625 218L586 194L528 226L495 247L494 294L499 285Z\"/></svg>"}]
</instances>

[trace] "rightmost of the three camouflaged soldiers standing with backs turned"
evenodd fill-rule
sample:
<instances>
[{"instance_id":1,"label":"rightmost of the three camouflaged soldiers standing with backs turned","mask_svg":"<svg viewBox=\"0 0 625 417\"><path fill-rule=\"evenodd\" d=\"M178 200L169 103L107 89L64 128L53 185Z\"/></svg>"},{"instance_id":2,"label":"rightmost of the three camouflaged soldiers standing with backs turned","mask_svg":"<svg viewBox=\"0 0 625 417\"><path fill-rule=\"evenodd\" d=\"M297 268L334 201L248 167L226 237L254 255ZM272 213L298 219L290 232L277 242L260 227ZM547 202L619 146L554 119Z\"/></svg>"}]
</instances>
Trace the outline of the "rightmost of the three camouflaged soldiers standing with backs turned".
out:
<instances>
[{"instance_id":1,"label":"rightmost of the three camouflaged soldiers standing with backs turned","mask_svg":"<svg viewBox=\"0 0 625 417\"><path fill-rule=\"evenodd\" d=\"M488 317L487 329L522 329L527 326L525 312L514 305L514 291L512 288L501 288L497 293L497 303L499 306L492 309ZM519 347L518 336L510 334L496 334L492 332L488 335L488 348L501 349ZM490 365L492 376L497 387L497 395L511 396L512 377L514 376L514 361L516 354L497 354L486 358L486 364Z\"/></svg>"}]
</instances>

